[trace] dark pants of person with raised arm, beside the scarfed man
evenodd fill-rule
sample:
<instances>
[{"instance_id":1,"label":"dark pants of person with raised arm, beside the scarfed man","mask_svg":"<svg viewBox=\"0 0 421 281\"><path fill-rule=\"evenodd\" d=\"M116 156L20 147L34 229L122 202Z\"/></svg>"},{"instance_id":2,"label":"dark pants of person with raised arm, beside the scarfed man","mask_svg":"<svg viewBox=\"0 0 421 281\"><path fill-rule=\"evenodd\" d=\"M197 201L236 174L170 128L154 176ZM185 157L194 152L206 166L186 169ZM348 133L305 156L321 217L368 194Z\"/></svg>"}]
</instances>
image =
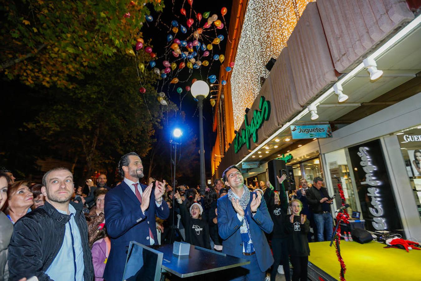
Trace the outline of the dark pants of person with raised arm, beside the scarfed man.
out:
<instances>
[{"instance_id":1,"label":"dark pants of person with raised arm, beside the scarfed man","mask_svg":"<svg viewBox=\"0 0 421 281\"><path fill-rule=\"evenodd\" d=\"M275 281L278 266L284 268L285 281L290 281L290 270L288 260L288 238L272 238L273 265L270 272L270 281Z\"/></svg>"}]
</instances>

